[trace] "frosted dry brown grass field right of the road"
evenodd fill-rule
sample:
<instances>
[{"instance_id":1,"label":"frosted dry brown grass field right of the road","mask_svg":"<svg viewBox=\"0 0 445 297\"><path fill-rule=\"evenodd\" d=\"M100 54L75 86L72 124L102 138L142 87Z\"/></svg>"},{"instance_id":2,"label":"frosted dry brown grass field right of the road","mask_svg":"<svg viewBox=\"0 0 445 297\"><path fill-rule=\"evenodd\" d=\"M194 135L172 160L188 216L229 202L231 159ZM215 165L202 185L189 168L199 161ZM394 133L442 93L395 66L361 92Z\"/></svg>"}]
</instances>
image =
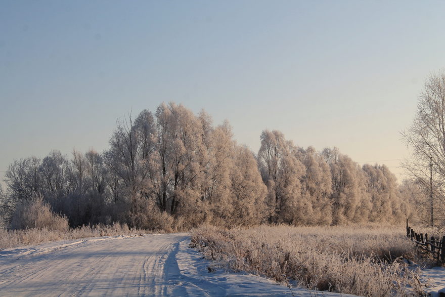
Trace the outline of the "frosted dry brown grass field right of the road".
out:
<instances>
[{"instance_id":1,"label":"frosted dry brown grass field right of the road","mask_svg":"<svg viewBox=\"0 0 445 297\"><path fill-rule=\"evenodd\" d=\"M414 259L403 227L289 227L192 230L192 244L207 259L235 271L279 282L364 296L419 295L419 272L402 261Z\"/></svg>"}]
</instances>

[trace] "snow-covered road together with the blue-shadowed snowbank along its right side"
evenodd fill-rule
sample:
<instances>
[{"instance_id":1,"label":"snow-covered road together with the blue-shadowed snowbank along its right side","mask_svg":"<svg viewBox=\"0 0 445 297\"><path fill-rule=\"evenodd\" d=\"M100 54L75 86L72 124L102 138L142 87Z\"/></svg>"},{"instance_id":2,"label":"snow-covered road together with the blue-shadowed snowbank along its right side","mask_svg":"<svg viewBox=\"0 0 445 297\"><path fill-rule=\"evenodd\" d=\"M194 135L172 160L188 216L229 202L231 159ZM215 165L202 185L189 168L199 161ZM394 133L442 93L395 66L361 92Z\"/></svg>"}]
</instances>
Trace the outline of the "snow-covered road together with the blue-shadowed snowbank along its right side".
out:
<instances>
[{"instance_id":1,"label":"snow-covered road together with the blue-shadowed snowbank along its right side","mask_svg":"<svg viewBox=\"0 0 445 297\"><path fill-rule=\"evenodd\" d=\"M292 296L288 287L259 276L209 273L213 263L189 243L187 233L148 234L0 250L0 295Z\"/></svg>"}]
</instances>

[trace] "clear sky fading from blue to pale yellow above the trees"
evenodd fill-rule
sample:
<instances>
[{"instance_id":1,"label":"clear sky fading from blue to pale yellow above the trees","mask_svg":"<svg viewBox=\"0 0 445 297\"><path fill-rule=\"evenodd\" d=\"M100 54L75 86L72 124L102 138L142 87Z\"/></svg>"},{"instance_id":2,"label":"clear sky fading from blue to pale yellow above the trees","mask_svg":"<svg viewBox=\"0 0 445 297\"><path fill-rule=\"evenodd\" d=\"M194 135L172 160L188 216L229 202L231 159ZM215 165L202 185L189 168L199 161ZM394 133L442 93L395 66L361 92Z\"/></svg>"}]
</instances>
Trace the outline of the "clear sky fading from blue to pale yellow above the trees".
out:
<instances>
[{"instance_id":1,"label":"clear sky fading from blue to pale yellow above the trees","mask_svg":"<svg viewBox=\"0 0 445 297\"><path fill-rule=\"evenodd\" d=\"M15 158L102 151L116 119L175 101L337 146L400 177L399 132L444 66L445 2L0 0L0 178ZM382 163L382 162L379 162Z\"/></svg>"}]
</instances>

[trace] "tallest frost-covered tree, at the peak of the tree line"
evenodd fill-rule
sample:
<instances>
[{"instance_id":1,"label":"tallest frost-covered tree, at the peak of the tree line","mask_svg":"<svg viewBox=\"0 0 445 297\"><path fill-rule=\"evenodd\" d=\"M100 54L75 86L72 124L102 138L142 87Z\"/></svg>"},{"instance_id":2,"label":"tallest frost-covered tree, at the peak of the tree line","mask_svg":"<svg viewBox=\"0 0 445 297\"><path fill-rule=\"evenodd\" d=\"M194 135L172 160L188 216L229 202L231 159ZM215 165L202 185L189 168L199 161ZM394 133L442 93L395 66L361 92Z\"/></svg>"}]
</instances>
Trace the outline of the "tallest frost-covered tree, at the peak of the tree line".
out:
<instances>
[{"instance_id":1,"label":"tallest frost-covered tree, at the peak of the tree line","mask_svg":"<svg viewBox=\"0 0 445 297\"><path fill-rule=\"evenodd\" d=\"M182 199L199 198L201 125L189 109L174 103L158 106L156 120L157 200L162 211L175 214Z\"/></svg>"}]
</instances>

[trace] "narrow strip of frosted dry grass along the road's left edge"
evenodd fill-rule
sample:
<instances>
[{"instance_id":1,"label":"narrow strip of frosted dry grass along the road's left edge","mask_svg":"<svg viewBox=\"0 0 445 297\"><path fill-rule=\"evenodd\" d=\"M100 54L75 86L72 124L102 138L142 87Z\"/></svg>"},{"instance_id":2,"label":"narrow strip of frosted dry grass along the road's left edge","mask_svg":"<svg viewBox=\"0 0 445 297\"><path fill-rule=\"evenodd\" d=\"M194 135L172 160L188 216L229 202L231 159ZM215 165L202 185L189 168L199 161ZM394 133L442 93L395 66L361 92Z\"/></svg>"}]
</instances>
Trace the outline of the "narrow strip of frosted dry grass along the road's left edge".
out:
<instances>
[{"instance_id":1,"label":"narrow strip of frosted dry grass along the road's left edge","mask_svg":"<svg viewBox=\"0 0 445 297\"><path fill-rule=\"evenodd\" d=\"M115 236L147 233L147 230L128 228L126 224L83 226L68 230L30 228L24 230L0 229L0 248L33 245L43 242L79 239L97 236Z\"/></svg>"}]
</instances>

